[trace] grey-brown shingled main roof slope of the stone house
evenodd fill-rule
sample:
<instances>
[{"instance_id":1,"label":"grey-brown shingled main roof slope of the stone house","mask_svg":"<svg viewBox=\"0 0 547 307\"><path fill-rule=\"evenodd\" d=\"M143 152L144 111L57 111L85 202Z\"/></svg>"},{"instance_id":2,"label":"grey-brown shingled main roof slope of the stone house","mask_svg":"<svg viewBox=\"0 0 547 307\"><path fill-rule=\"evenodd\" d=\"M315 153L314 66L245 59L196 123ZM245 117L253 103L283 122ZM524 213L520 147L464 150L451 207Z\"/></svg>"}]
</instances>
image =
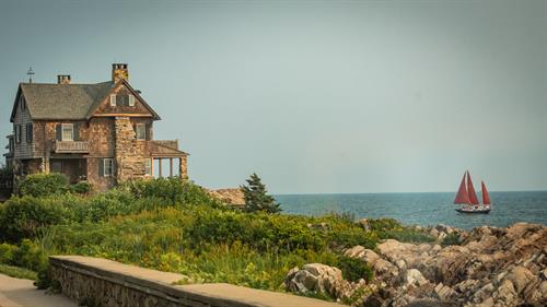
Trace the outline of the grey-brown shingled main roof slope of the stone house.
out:
<instances>
[{"instance_id":1,"label":"grey-brown shingled main roof slope of the stone house","mask_svg":"<svg viewBox=\"0 0 547 307\"><path fill-rule=\"evenodd\" d=\"M90 109L106 97L113 85L112 81L96 84L21 83L20 95L24 95L33 119L79 120L88 117Z\"/></svg>"}]
</instances>

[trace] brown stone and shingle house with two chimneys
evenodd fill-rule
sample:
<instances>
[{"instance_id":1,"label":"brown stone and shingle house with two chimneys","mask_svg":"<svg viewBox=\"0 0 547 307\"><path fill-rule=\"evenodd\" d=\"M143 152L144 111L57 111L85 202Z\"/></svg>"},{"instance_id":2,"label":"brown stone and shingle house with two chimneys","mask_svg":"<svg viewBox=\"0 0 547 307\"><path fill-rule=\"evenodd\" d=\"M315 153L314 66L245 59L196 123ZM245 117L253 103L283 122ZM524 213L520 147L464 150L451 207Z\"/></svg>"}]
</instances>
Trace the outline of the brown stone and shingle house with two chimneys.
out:
<instances>
[{"instance_id":1,"label":"brown stone and shingle house with two chimneys","mask_svg":"<svg viewBox=\"0 0 547 307\"><path fill-rule=\"evenodd\" d=\"M126 63L114 63L106 82L70 81L70 75L58 75L53 84L19 84L4 154L15 180L57 172L71 182L85 179L106 190L154 174L187 178L188 154L178 150L177 140L153 139L160 116L129 84Z\"/></svg>"}]
</instances>

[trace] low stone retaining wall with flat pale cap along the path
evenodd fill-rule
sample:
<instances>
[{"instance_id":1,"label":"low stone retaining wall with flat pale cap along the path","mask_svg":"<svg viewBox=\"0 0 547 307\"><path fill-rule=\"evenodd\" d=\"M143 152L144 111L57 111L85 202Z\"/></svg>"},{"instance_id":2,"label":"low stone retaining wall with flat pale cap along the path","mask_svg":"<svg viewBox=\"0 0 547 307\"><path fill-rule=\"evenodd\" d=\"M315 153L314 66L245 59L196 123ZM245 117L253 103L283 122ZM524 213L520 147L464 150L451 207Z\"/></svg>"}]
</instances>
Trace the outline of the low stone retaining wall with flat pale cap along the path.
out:
<instances>
[{"instance_id":1,"label":"low stone retaining wall with flat pale cap along the path","mask_svg":"<svg viewBox=\"0 0 547 307\"><path fill-rule=\"evenodd\" d=\"M85 306L103 307L339 307L324 300L230 284L174 285L184 276L116 261L81 257L49 258L62 294Z\"/></svg>"}]
</instances>

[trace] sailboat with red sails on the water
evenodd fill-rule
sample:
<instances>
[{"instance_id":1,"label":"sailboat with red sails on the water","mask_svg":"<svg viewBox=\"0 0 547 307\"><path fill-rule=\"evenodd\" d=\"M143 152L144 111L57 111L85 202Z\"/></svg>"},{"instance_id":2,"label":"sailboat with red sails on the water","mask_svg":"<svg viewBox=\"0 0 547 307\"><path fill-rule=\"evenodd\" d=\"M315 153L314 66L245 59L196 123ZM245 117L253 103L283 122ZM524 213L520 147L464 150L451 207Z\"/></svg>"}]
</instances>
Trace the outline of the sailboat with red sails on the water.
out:
<instances>
[{"instance_id":1,"label":"sailboat with red sails on the water","mask_svg":"<svg viewBox=\"0 0 547 307\"><path fill-rule=\"evenodd\" d=\"M485 181L480 182L482 190L482 203L480 204L477 199L477 193L473 187L472 176L469 172L466 170L464 178L462 178L462 184L459 184L459 190L457 191L455 204L462 204L461 208L456 209L459 213L489 213L490 212L490 196L486 189Z\"/></svg>"}]
</instances>

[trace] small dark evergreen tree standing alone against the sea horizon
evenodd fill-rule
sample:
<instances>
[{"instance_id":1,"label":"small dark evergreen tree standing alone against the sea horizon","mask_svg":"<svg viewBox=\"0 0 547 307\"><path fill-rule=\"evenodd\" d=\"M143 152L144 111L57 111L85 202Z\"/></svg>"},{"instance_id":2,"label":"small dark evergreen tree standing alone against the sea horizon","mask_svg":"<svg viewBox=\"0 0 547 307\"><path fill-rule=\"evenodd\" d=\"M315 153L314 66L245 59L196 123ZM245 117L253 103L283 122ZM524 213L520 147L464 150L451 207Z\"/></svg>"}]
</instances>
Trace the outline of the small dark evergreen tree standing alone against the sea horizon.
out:
<instances>
[{"instance_id":1,"label":"small dark evergreen tree standing alone against the sea horizon","mask_svg":"<svg viewBox=\"0 0 547 307\"><path fill-rule=\"evenodd\" d=\"M241 187L245 197L245 211L263 211L267 213L279 213L281 211L279 203L276 203L276 200L266 193L266 186L260 181L258 175L253 173L246 181L248 186Z\"/></svg>"}]
</instances>

